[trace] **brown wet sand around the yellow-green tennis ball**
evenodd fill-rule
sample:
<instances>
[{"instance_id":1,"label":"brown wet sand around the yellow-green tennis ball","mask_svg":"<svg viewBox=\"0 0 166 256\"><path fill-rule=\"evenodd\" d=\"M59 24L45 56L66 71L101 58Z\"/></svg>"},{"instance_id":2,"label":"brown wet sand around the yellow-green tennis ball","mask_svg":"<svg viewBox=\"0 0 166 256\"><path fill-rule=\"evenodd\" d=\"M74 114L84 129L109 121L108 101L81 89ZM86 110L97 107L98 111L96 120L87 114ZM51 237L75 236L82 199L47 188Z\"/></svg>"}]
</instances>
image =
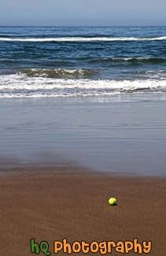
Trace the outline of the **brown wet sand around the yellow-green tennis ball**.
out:
<instances>
[{"instance_id":1,"label":"brown wet sand around the yellow-green tennis ball","mask_svg":"<svg viewBox=\"0 0 166 256\"><path fill-rule=\"evenodd\" d=\"M117 176L69 166L18 169L10 167L0 176L3 256L34 255L31 238L48 241L52 255L53 241L65 238L69 243L138 238L140 243L152 241L149 255L165 255L165 177ZM117 198L117 206L109 206L110 197ZM113 249L110 254L120 253Z\"/></svg>"}]
</instances>

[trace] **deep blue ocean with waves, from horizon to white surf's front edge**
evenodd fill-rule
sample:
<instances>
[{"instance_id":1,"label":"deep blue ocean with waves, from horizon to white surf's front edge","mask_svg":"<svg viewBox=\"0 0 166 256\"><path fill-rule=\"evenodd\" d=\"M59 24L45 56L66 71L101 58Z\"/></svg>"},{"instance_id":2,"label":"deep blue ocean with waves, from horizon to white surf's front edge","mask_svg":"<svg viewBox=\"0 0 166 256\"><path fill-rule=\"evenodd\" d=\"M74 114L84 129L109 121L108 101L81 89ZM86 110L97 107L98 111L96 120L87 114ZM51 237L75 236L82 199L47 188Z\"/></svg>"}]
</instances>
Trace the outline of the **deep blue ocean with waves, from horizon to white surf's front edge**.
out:
<instances>
[{"instance_id":1,"label":"deep blue ocean with waves, from horizon to white surf's front edge","mask_svg":"<svg viewBox=\"0 0 166 256\"><path fill-rule=\"evenodd\" d=\"M0 98L165 91L166 27L0 27Z\"/></svg>"}]
</instances>

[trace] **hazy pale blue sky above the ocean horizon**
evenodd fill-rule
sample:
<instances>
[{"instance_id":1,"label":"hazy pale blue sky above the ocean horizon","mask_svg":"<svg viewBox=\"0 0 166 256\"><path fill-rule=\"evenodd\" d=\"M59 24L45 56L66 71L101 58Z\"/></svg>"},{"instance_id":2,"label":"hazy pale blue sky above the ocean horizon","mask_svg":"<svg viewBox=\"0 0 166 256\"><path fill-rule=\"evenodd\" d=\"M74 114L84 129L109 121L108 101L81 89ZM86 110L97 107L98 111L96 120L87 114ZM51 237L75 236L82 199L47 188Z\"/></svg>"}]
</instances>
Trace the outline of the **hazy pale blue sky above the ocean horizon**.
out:
<instances>
[{"instance_id":1,"label":"hazy pale blue sky above the ocean horizon","mask_svg":"<svg viewBox=\"0 0 166 256\"><path fill-rule=\"evenodd\" d=\"M166 0L1 0L0 25L166 25Z\"/></svg>"}]
</instances>

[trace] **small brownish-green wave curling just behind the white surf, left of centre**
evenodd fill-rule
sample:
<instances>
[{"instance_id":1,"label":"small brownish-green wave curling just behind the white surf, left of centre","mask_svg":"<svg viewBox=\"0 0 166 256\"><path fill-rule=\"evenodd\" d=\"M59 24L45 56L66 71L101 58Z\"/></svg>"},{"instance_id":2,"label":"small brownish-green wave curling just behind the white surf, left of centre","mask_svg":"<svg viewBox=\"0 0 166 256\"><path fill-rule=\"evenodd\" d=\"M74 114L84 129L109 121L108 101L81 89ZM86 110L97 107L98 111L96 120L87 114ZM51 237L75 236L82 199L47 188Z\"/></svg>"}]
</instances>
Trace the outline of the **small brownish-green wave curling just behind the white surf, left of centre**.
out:
<instances>
[{"instance_id":1,"label":"small brownish-green wave curling just behind the white surf, left of centre","mask_svg":"<svg viewBox=\"0 0 166 256\"><path fill-rule=\"evenodd\" d=\"M21 69L20 74L29 77L86 78L97 73L94 69Z\"/></svg>"}]
</instances>

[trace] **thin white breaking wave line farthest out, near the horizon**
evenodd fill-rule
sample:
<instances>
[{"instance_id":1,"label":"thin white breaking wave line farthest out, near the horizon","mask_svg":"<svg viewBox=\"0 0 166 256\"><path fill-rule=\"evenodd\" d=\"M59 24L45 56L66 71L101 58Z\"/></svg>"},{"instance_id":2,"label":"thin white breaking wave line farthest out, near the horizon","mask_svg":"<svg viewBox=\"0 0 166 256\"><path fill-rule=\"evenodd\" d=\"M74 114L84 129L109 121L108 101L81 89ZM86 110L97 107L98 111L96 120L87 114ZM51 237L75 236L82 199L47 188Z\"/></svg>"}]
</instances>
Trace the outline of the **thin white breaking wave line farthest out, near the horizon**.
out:
<instances>
[{"instance_id":1,"label":"thin white breaking wave line farthest out, near the horizon","mask_svg":"<svg viewBox=\"0 0 166 256\"><path fill-rule=\"evenodd\" d=\"M93 41L157 41L166 40L166 36L159 37L54 37L54 38L7 38L1 37L0 41L8 42L93 42Z\"/></svg>"}]
</instances>

